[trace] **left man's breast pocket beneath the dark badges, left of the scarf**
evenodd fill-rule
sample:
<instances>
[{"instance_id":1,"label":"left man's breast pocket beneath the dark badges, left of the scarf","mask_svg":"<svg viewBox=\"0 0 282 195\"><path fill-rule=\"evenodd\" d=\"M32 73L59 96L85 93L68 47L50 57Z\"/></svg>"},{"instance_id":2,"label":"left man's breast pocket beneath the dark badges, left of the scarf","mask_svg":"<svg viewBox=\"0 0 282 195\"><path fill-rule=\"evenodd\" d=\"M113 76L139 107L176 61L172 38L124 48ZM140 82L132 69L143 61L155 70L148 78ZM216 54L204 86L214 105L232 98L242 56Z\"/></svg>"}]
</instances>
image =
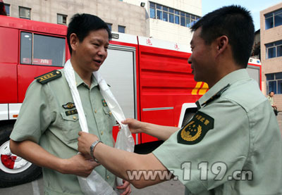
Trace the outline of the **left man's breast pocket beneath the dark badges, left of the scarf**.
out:
<instances>
[{"instance_id":1,"label":"left man's breast pocket beneath the dark badges, left of the scarf","mask_svg":"<svg viewBox=\"0 0 282 195\"><path fill-rule=\"evenodd\" d=\"M61 128L63 130L64 139L68 143L77 141L78 132L81 131L80 123L78 120L78 113L75 113L74 110L71 112L61 112L61 117Z\"/></svg>"}]
</instances>

